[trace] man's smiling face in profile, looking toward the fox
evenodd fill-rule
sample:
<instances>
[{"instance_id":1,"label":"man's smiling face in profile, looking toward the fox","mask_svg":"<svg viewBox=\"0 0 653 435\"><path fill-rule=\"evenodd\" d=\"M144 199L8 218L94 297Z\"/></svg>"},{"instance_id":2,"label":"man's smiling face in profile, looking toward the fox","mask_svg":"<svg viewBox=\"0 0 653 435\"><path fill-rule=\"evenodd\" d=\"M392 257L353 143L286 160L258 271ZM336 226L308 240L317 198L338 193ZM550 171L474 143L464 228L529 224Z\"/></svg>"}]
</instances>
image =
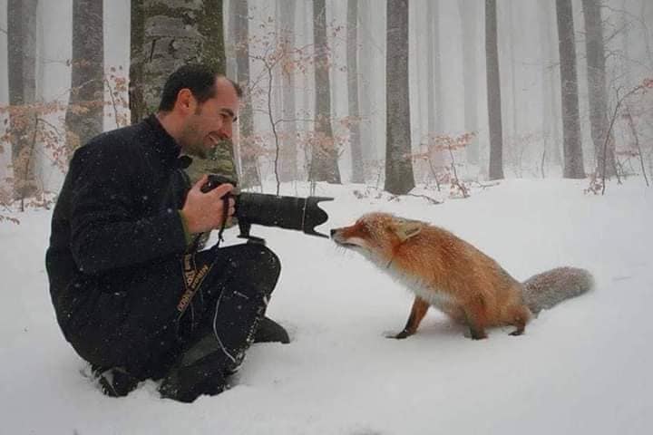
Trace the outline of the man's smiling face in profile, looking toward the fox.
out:
<instances>
[{"instance_id":1,"label":"man's smiling face in profile, looking toward the fox","mask_svg":"<svg viewBox=\"0 0 653 435\"><path fill-rule=\"evenodd\" d=\"M239 98L224 77L216 79L216 94L206 102L194 101L194 111L186 118L179 142L187 154L206 159L220 140L231 139L237 119Z\"/></svg>"}]
</instances>

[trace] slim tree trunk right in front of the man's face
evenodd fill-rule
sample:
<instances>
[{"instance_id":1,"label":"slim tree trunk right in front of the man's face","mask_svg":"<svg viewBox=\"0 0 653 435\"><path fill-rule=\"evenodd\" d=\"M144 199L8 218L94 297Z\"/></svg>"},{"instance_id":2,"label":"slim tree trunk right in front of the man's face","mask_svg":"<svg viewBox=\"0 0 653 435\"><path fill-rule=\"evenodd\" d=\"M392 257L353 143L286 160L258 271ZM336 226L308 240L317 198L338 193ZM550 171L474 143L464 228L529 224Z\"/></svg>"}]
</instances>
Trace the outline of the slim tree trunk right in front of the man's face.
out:
<instances>
[{"instance_id":1,"label":"slim tree trunk right in front of the man's face","mask_svg":"<svg viewBox=\"0 0 653 435\"><path fill-rule=\"evenodd\" d=\"M245 90L239 114L239 154L241 187L250 188L261 184L258 175L258 160L254 147L254 111L252 109L249 88L249 5L248 0L231 0L234 2L234 34L236 48L237 80Z\"/></svg>"}]
</instances>

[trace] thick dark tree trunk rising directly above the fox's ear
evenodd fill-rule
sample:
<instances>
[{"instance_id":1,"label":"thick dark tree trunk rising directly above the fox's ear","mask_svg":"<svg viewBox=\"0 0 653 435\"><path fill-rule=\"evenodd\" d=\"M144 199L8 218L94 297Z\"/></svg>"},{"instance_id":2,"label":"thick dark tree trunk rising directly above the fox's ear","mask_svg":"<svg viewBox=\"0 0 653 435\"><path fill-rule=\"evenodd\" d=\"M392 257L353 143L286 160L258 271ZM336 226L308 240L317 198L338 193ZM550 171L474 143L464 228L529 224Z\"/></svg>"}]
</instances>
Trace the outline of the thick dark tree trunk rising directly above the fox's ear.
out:
<instances>
[{"instance_id":1,"label":"thick dark tree trunk rising directly above the fox's ear","mask_svg":"<svg viewBox=\"0 0 653 435\"><path fill-rule=\"evenodd\" d=\"M385 190L414 188L408 92L408 0L387 0Z\"/></svg>"}]
</instances>

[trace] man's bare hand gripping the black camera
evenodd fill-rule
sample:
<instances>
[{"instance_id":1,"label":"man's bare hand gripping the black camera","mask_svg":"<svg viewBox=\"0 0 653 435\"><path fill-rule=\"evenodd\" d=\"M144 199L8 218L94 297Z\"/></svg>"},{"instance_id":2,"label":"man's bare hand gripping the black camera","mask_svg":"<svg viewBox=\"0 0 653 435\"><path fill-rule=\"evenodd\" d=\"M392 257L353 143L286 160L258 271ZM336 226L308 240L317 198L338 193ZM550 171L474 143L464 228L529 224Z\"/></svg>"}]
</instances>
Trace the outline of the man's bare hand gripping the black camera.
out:
<instances>
[{"instance_id":1,"label":"man's bare hand gripping the black camera","mask_svg":"<svg viewBox=\"0 0 653 435\"><path fill-rule=\"evenodd\" d=\"M190 189L181 214L186 220L190 234L202 233L210 229L222 226L222 215L224 214L224 201L222 197L227 195L233 186L221 184L216 189L203 193L200 188L206 184L209 178L204 175L195 186ZM229 198L229 210L227 216L230 218L235 213L235 202Z\"/></svg>"}]
</instances>

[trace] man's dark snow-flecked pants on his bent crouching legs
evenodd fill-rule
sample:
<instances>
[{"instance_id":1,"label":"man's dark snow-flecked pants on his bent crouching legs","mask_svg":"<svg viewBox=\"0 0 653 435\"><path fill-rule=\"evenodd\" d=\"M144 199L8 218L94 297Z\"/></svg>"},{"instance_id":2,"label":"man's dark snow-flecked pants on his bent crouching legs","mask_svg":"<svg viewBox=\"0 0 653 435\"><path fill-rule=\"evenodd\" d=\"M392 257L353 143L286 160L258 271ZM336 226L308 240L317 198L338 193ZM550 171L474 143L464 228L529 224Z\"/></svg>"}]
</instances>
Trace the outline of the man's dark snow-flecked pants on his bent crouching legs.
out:
<instances>
[{"instance_id":1,"label":"man's dark snow-flecked pants on his bent crouching legs","mask_svg":"<svg viewBox=\"0 0 653 435\"><path fill-rule=\"evenodd\" d=\"M211 248L194 260L198 269L212 266L183 314L181 259L143 267L129 289L103 292L91 306L93 321L72 340L77 352L96 367L121 367L140 380L197 359L198 343L224 353L231 368L238 365L277 284L278 257L263 245L243 244Z\"/></svg>"}]
</instances>

